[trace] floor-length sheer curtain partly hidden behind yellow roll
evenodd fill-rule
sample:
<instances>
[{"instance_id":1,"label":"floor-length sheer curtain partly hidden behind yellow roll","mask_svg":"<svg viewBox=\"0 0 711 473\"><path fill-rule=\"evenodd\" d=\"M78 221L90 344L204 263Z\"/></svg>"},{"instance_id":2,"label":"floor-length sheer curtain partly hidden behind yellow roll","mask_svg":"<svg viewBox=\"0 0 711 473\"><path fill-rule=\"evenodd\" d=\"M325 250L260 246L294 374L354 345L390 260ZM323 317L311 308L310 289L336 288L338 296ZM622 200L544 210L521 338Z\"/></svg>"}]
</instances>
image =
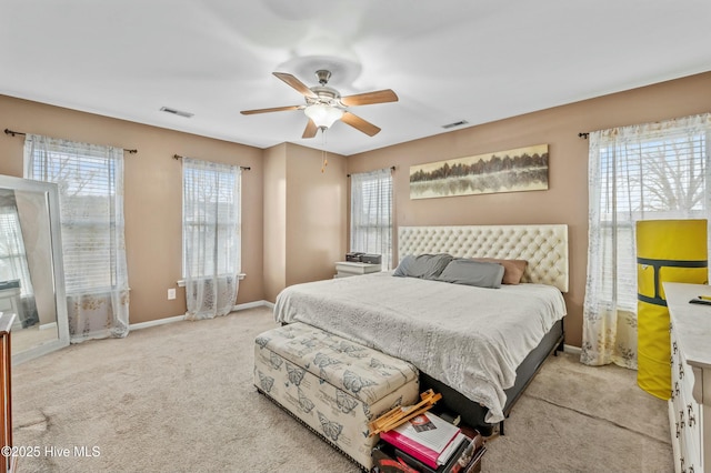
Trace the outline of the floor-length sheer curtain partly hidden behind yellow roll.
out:
<instances>
[{"instance_id":1,"label":"floor-length sheer curtain partly hidden behind yellow roll","mask_svg":"<svg viewBox=\"0 0 711 473\"><path fill-rule=\"evenodd\" d=\"M590 133L581 362L637 369L639 220L708 219L711 114Z\"/></svg>"}]
</instances>

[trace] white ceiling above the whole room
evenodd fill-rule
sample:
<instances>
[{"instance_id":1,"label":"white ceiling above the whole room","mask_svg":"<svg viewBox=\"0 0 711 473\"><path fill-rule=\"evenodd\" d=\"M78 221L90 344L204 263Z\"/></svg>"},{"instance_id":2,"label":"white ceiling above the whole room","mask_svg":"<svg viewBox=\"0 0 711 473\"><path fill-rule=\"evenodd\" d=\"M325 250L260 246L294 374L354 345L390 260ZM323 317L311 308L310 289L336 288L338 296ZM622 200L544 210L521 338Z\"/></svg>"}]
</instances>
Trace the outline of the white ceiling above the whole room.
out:
<instances>
[{"instance_id":1,"label":"white ceiling above the whole room","mask_svg":"<svg viewBox=\"0 0 711 473\"><path fill-rule=\"evenodd\" d=\"M1 94L349 155L709 71L711 1L0 0L0 44ZM301 111L239 113L302 104L271 72L316 85L323 67L342 95L395 91L349 109L379 134L337 122L323 143Z\"/></svg>"}]
</instances>

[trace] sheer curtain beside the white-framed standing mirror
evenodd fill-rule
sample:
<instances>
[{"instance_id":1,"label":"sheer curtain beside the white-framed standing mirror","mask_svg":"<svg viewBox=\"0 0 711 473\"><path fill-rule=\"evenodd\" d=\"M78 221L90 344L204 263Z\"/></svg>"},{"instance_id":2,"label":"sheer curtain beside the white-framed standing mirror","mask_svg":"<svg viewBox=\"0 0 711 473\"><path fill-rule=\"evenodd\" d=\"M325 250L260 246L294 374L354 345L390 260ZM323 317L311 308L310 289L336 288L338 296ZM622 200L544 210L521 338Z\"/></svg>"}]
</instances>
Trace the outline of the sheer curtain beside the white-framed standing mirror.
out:
<instances>
[{"instance_id":1,"label":"sheer curtain beside the white-framed standing mirror","mask_svg":"<svg viewBox=\"0 0 711 473\"><path fill-rule=\"evenodd\" d=\"M123 150L28 134L24 177L58 184L71 341L128 335Z\"/></svg>"}]
</instances>

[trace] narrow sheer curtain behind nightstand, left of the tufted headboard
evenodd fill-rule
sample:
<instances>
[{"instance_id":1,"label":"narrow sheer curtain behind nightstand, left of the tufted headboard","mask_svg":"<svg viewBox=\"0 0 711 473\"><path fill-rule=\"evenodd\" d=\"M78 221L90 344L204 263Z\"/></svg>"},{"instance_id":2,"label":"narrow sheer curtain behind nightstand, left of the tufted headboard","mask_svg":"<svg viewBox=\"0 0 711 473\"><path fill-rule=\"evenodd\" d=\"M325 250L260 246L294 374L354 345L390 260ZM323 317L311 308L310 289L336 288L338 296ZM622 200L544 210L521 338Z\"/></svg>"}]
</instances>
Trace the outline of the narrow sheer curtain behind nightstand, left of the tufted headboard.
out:
<instances>
[{"instance_id":1,"label":"narrow sheer curtain behind nightstand, left of the tufted headboard","mask_svg":"<svg viewBox=\"0 0 711 473\"><path fill-rule=\"evenodd\" d=\"M351 251L382 255L392 269L392 170L351 174Z\"/></svg>"}]
</instances>

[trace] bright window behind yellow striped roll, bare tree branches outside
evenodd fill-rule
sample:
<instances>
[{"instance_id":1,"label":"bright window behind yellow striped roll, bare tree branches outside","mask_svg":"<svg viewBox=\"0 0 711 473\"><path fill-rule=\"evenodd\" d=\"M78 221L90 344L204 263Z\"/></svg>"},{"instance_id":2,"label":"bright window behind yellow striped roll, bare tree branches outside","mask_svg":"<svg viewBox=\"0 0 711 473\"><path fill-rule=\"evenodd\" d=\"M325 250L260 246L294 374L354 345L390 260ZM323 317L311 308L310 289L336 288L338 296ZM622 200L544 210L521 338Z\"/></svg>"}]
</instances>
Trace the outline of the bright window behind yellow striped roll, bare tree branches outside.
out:
<instances>
[{"instance_id":1,"label":"bright window behind yellow striped roll, bare tree branches outside","mask_svg":"<svg viewBox=\"0 0 711 473\"><path fill-rule=\"evenodd\" d=\"M634 142L600 144L600 224L603 253L617 265L603 268L603 293L617 288L618 308L637 311L635 224L640 220L705 219L707 145L703 130L651 132ZM613 276L613 271L615 276Z\"/></svg>"}]
</instances>

